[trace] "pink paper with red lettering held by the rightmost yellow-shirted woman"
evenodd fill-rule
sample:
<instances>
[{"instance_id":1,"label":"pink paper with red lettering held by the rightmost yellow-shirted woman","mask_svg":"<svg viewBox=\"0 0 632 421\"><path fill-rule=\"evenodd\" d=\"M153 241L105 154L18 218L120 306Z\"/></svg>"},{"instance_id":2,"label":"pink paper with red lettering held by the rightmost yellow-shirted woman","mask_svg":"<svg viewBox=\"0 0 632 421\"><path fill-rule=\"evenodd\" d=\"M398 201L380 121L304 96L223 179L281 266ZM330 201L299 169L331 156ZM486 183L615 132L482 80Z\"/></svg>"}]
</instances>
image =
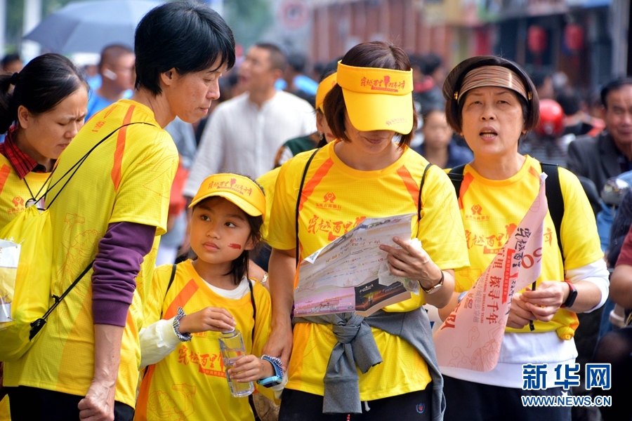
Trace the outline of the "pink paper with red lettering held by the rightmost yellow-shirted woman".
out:
<instances>
[{"instance_id":1,"label":"pink paper with red lettering held by the rightmost yellow-shirted woman","mask_svg":"<svg viewBox=\"0 0 632 421\"><path fill-rule=\"evenodd\" d=\"M496 367L513 293L540 276L548 210L545 178L540 176L539 193L505 246L435 333L439 366L476 371Z\"/></svg>"}]
</instances>

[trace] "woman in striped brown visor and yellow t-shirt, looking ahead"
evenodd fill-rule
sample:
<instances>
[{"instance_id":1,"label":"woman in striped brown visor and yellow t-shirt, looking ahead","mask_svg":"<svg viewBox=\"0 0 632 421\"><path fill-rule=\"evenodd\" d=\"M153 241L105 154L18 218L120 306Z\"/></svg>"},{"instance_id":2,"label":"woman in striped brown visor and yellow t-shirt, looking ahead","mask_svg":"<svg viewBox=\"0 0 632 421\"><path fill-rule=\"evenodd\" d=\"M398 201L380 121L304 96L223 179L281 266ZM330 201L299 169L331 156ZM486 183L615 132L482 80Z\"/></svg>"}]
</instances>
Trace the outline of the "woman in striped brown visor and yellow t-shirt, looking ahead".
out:
<instances>
[{"instance_id":1,"label":"woman in striped brown visor and yellow t-shirt, looking ahead","mask_svg":"<svg viewBox=\"0 0 632 421\"><path fill-rule=\"evenodd\" d=\"M456 272L451 305L440 311L445 317L527 213L539 192L542 168L531 156L518 153L518 142L538 122L539 100L529 76L514 62L492 56L464 60L447 76L443 94L450 126L474 152L473 161L463 168L459 189L470 268ZM527 395L563 396L558 385L564 380L572 384L574 375L579 385L572 340L576 313L597 309L607 298L608 272L588 199L577 177L564 168L558 168L558 175L563 217L559 232L551 215L544 220L541 275L535 286L509 298L495 368L481 372L441 367L445 420L570 420L569 407L522 403ZM560 206L551 198L552 206ZM464 346L466 341L463 338ZM523 381L525 364L533 364L534 372L536 364L543 373L548 371L544 380L538 375L542 389Z\"/></svg>"}]
</instances>

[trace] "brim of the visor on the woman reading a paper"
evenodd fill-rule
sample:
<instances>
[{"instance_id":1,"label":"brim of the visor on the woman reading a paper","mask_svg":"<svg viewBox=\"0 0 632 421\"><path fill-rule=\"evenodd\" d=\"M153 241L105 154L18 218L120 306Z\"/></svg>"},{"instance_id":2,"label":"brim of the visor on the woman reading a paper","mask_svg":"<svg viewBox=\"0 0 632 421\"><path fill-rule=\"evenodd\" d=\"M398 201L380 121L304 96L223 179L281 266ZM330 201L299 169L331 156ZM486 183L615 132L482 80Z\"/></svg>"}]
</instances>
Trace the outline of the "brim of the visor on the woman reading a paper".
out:
<instances>
[{"instance_id":1,"label":"brim of the visor on the woman reading a paper","mask_svg":"<svg viewBox=\"0 0 632 421\"><path fill-rule=\"evenodd\" d=\"M391 130L402 135L412 132L412 93L384 95L360 93L342 88L353 127L359 131Z\"/></svg>"}]
</instances>

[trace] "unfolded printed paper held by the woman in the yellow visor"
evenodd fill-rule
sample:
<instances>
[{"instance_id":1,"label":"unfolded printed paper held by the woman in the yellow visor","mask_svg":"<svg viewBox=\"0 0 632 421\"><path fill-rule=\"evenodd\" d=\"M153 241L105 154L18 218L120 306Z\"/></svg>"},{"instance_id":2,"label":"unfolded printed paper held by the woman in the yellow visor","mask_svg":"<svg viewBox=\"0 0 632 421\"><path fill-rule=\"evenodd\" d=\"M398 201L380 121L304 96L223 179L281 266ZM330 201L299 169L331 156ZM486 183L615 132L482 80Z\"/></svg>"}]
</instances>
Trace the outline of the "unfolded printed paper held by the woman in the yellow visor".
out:
<instances>
[{"instance_id":1,"label":"unfolded printed paper held by the woman in the yellow visor","mask_svg":"<svg viewBox=\"0 0 632 421\"><path fill-rule=\"evenodd\" d=\"M378 309L419 293L419 283L399 278L388 269L380 244L397 247L393 237L409 239L414 214L367 218L357 227L305 258L294 290L294 314L315 316ZM419 241L416 243L421 247Z\"/></svg>"}]
</instances>

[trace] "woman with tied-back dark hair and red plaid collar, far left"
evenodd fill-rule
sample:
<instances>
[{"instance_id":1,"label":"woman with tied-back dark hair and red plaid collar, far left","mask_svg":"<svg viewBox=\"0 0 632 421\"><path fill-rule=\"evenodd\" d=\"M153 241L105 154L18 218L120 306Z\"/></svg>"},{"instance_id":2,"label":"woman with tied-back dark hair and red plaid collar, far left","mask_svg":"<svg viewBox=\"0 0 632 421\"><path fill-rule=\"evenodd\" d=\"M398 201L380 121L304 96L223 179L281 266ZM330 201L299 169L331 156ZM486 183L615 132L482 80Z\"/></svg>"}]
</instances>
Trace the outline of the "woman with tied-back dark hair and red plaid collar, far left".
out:
<instances>
[{"instance_id":1,"label":"woman with tied-back dark hair and red plaid collar, far left","mask_svg":"<svg viewBox=\"0 0 632 421\"><path fill-rule=\"evenodd\" d=\"M88 83L70 60L44 54L0 76L0 227L46 190L53 165L84 125ZM1 383L2 363L0 363ZM8 416L0 402L0 420Z\"/></svg>"}]
</instances>

